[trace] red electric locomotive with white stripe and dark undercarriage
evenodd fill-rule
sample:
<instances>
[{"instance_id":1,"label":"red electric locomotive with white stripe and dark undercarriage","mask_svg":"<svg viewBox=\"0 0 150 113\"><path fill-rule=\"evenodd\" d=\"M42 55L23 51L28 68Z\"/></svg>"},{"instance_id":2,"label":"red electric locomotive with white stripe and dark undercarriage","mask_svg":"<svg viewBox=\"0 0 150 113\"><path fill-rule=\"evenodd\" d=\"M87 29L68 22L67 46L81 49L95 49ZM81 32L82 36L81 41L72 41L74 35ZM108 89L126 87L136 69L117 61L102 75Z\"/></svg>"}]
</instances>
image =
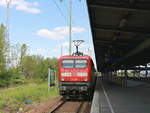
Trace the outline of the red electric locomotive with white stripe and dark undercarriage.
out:
<instances>
[{"instance_id":1,"label":"red electric locomotive with white stripe and dark undercarriage","mask_svg":"<svg viewBox=\"0 0 150 113\"><path fill-rule=\"evenodd\" d=\"M65 97L91 96L95 85L90 56L62 56L59 59L59 91Z\"/></svg>"}]
</instances>

